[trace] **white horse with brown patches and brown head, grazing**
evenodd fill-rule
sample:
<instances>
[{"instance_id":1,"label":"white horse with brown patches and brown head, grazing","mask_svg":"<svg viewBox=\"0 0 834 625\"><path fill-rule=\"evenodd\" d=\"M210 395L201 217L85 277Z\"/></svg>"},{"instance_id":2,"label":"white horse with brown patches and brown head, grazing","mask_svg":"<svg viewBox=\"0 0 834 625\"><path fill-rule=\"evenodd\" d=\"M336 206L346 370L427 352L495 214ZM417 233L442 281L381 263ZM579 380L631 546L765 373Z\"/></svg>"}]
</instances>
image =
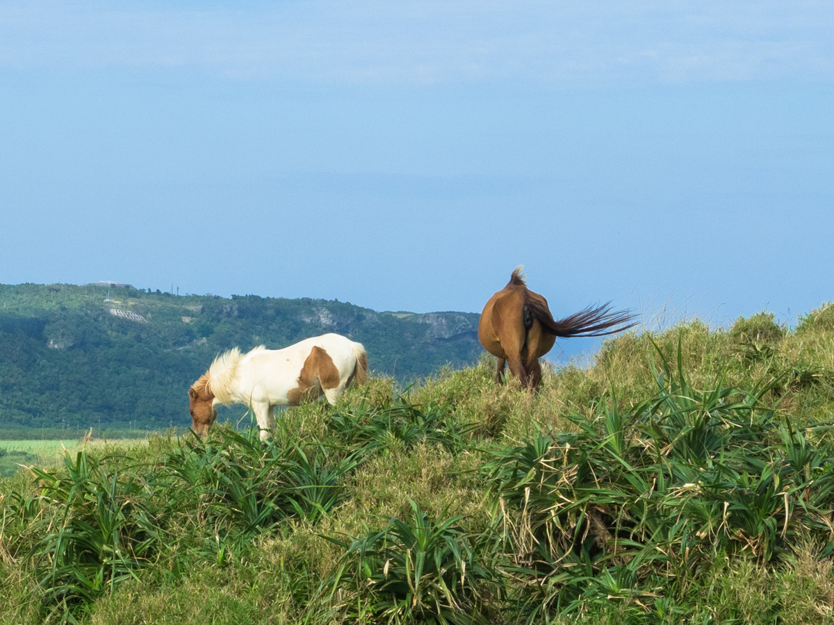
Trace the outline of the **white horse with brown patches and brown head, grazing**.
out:
<instances>
[{"instance_id":1,"label":"white horse with brown patches and brown head, grazing","mask_svg":"<svg viewBox=\"0 0 834 625\"><path fill-rule=\"evenodd\" d=\"M192 428L200 437L217 418L217 404L244 403L255 414L260 438L272 436L275 406L298 406L324 395L331 404L353 380L362 384L368 359L361 343L339 334L304 339L284 349L263 345L241 354L230 349L188 389Z\"/></svg>"}]
</instances>

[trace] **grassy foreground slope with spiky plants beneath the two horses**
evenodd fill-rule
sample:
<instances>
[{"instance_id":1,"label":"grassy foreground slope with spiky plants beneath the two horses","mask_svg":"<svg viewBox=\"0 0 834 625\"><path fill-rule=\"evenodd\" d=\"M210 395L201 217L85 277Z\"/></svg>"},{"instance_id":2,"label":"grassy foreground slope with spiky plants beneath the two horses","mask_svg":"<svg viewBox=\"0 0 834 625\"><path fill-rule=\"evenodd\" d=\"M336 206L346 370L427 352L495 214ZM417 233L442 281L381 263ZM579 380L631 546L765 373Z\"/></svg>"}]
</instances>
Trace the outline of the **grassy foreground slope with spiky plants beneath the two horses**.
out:
<instances>
[{"instance_id":1,"label":"grassy foreground slope with spiky plants beneath the two horses","mask_svg":"<svg viewBox=\"0 0 834 625\"><path fill-rule=\"evenodd\" d=\"M4 480L0 622L834 622L834 306Z\"/></svg>"}]
</instances>

